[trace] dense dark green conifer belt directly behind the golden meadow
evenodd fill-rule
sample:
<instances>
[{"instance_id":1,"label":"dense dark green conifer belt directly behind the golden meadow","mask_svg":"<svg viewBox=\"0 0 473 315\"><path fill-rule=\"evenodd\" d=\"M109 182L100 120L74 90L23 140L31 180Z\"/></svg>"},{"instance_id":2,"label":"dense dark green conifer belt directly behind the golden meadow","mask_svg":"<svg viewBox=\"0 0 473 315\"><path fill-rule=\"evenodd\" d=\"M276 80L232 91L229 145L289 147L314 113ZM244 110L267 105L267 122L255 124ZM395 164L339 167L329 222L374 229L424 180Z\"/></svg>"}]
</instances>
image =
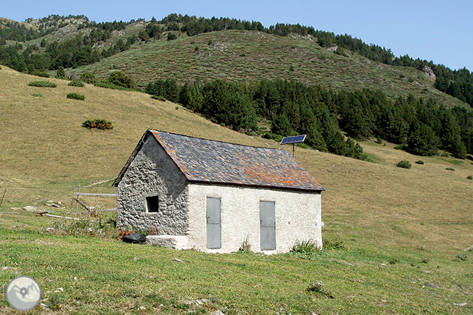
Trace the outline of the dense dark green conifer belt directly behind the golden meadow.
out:
<instances>
[{"instance_id":1,"label":"dense dark green conifer belt directly behind the golden meadow","mask_svg":"<svg viewBox=\"0 0 473 315\"><path fill-rule=\"evenodd\" d=\"M160 79L145 92L235 130L258 131L257 121L266 119L271 132L264 136L306 134L310 147L337 155L364 159L355 140L367 138L397 143L415 155L435 155L440 149L463 159L473 154L473 112L460 106L448 109L435 99L410 95L391 100L379 90L334 92L283 79L251 85L221 79L180 85Z\"/></svg>"}]
</instances>

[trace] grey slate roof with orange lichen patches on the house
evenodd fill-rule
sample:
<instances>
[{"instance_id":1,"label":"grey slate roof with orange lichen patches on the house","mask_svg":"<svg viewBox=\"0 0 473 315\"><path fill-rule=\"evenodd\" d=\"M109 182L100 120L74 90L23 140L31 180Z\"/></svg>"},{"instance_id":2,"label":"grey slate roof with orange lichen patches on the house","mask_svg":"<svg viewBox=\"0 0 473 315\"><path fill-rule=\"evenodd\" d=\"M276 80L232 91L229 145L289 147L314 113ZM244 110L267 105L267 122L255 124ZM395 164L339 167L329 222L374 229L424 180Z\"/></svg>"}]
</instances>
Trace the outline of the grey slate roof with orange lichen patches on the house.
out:
<instances>
[{"instance_id":1,"label":"grey slate roof with orange lichen patches on the house","mask_svg":"<svg viewBox=\"0 0 473 315\"><path fill-rule=\"evenodd\" d=\"M325 190L286 150L237 145L154 130L148 130L143 138L148 138L150 134L191 182ZM139 150L138 147L135 151ZM122 172L126 172L125 167ZM116 179L116 184L122 176Z\"/></svg>"}]
</instances>

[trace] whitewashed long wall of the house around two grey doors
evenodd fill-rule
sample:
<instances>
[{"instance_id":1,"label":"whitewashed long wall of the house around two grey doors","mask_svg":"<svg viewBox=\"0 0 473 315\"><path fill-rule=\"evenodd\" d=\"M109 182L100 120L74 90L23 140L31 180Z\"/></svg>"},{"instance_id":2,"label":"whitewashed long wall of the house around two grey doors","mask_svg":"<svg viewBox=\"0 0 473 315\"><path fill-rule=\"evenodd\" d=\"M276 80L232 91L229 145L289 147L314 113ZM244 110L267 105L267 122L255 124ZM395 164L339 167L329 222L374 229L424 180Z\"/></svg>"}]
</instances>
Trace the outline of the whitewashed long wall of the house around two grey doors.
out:
<instances>
[{"instance_id":1,"label":"whitewashed long wall of the house around two grey doors","mask_svg":"<svg viewBox=\"0 0 473 315\"><path fill-rule=\"evenodd\" d=\"M275 201L276 250L286 253L295 241L322 246L320 192L191 183L188 187L188 245L208 253L237 251L248 236L251 250L261 251L259 201ZM221 199L222 248L207 248L207 197Z\"/></svg>"}]
</instances>

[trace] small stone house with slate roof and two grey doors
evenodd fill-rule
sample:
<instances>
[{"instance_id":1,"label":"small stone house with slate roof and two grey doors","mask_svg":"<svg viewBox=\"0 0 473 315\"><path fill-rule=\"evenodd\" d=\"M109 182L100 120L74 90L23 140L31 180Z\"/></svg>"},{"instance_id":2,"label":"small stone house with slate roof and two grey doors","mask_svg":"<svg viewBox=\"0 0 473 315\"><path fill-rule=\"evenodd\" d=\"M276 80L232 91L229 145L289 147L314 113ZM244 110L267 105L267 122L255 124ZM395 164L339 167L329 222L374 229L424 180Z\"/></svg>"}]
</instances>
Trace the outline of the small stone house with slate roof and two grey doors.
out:
<instances>
[{"instance_id":1,"label":"small stone house with slate roof and two grey doors","mask_svg":"<svg viewBox=\"0 0 473 315\"><path fill-rule=\"evenodd\" d=\"M285 150L148 130L114 182L116 223L148 243L230 253L322 246L325 190Z\"/></svg>"}]
</instances>

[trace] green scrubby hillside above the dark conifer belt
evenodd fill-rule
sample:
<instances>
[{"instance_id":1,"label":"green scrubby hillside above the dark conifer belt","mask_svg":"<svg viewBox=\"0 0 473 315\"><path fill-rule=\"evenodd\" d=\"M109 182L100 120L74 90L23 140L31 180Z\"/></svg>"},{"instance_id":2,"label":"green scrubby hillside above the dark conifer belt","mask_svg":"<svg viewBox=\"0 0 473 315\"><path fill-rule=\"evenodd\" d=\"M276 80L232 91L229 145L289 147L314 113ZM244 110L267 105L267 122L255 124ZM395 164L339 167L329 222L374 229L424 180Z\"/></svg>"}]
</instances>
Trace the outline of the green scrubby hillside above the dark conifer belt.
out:
<instances>
[{"instance_id":1,"label":"green scrubby hillside above the dark conifer belt","mask_svg":"<svg viewBox=\"0 0 473 315\"><path fill-rule=\"evenodd\" d=\"M44 38L27 41L26 49L45 39L48 43L86 35L89 28L77 30L82 20L72 21L65 27ZM22 22L36 26L37 20ZM99 42L94 48L104 50L121 39L138 35L148 22L130 23L124 31L112 32L112 38ZM396 98L414 94L416 97L434 97L447 106L465 106L462 101L442 93L433 87L434 81L420 70L411 67L393 67L373 62L354 52L346 51L340 56L320 47L317 39L310 36L288 35L281 37L256 31L219 31L188 37L175 32L177 40L167 40L167 31L160 40L139 42L131 49L102 59L93 65L70 69L67 72L81 74L93 72L105 78L114 70L122 70L141 87L156 79L177 79L183 83L192 79L229 79L252 82L261 79L295 79L305 84L321 84L331 89L382 89ZM13 41L8 41L13 45ZM40 48L43 51L44 48ZM55 72L51 71L51 74ZM469 106L468 106L469 108Z\"/></svg>"}]
</instances>

